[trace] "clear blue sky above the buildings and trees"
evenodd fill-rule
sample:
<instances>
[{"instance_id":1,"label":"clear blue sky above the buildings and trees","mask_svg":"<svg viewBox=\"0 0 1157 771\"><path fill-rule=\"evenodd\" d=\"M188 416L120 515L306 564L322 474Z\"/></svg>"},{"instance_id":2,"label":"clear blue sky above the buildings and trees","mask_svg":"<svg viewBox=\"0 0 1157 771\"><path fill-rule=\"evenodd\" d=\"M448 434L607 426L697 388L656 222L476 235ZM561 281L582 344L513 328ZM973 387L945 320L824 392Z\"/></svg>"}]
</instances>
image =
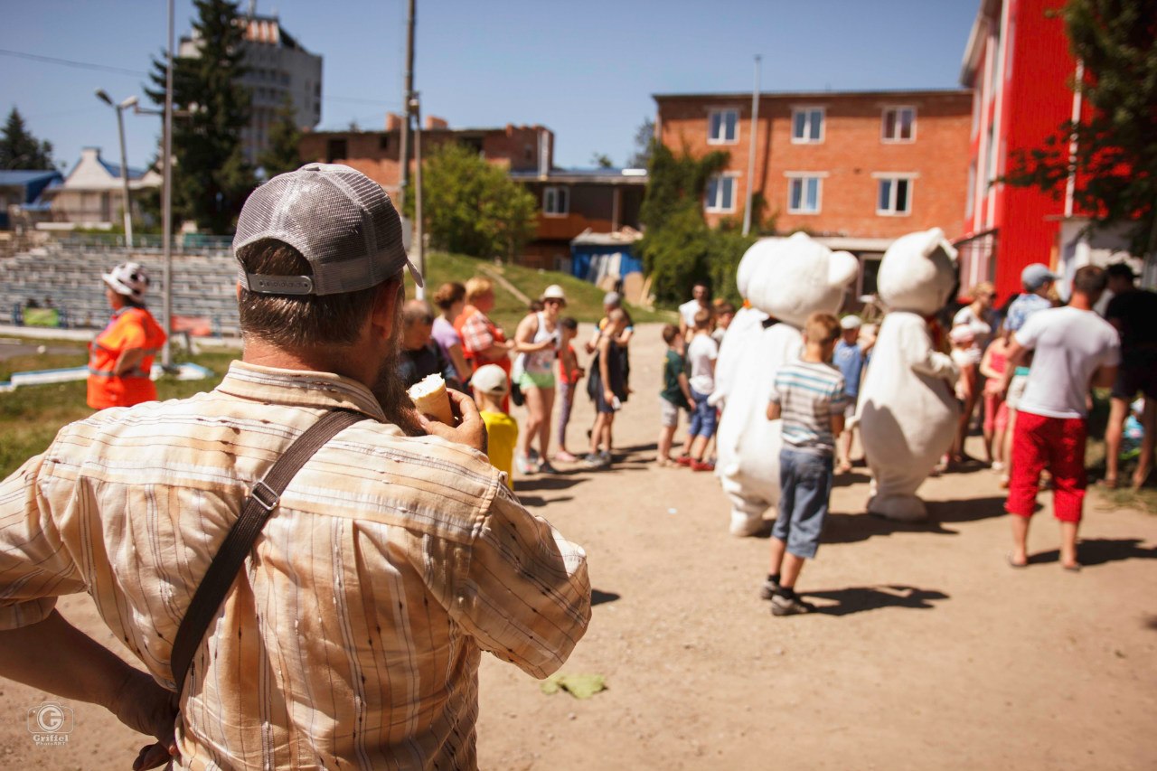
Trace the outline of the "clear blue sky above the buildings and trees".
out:
<instances>
[{"instance_id":1,"label":"clear blue sky above the buildings and trees","mask_svg":"<svg viewBox=\"0 0 1157 771\"><path fill-rule=\"evenodd\" d=\"M762 54L762 90L955 88L979 0L418 0L415 88L451 126L541 124L555 163L621 164L651 94L744 91ZM242 9L248 2L242 2ZM143 72L165 45L164 0L7 0L0 110L15 105L71 166L84 146L116 161L113 111L93 95L145 101ZM259 0L259 14L324 57L322 123L378 128L401 102L405 0ZM187 34L190 0L176 3ZM160 119L125 116L130 166L153 157Z\"/></svg>"}]
</instances>

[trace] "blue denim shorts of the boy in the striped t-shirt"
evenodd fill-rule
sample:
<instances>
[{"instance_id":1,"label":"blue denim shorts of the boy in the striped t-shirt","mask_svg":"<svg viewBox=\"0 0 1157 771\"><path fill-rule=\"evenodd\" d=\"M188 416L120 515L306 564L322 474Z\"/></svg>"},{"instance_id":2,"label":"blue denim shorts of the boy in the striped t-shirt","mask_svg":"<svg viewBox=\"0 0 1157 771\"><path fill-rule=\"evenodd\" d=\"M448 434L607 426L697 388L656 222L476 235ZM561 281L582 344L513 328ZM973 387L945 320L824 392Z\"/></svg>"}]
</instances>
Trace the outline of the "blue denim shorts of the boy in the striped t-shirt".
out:
<instances>
[{"instance_id":1,"label":"blue denim shorts of the boy in the striped t-shirt","mask_svg":"<svg viewBox=\"0 0 1157 771\"><path fill-rule=\"evenodd\" d=\"M831 494L831 455L781 449L780 515L775 517L772 537L784 542L796 557L815 557Z\"/></svg>"}]
</instances>

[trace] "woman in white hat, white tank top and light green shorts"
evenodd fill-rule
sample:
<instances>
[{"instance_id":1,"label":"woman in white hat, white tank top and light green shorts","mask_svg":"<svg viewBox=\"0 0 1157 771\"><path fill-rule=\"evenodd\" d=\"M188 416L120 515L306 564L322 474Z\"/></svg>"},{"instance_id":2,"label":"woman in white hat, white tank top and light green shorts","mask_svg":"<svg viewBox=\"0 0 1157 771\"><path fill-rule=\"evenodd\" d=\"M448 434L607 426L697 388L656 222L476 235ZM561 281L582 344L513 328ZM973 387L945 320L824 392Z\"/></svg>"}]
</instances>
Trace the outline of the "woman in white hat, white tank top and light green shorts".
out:
<instances>
[{"instance_id":1,"label":"woman in white hat, white tank top and light green shorts","mask_svg":"<svg viewBox=\"0 0 1157 771\"><path fill-rule=\"evenodd\" d=\"M518 323L514 350L518 358L513 379L526 398L526 426L522 448L515 453L518 473L554 472L550 461L551 411L554 409L554 359L561 335L559 315L567 304L562 287L552 284L543 293L543 310ZM532 447L538 440L538 451Z\"/></svg>"}]
</instances>

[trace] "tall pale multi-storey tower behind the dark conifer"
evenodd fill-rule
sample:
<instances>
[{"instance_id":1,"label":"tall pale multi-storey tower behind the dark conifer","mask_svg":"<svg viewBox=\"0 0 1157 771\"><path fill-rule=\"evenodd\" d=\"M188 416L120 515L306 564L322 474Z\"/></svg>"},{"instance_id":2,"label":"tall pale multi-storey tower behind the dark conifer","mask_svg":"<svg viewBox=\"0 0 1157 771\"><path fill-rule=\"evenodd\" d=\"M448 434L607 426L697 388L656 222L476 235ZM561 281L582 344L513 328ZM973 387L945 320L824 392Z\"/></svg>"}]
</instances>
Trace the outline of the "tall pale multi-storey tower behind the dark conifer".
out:
<instances>
[{"instance_id":1,"label":"tall pale multi-storey tower behind the dark conifer","mask_svg":"<svg viewBox=\"0 0 1157 771\"><path fill-rule=\"evenodd\" d=\"M251 0L242 16L245 25L245 74L241 83L250 91L249 125L241 131L245 160L257 164L257 157L268 147L268 130L278 120L286 100L293 105L299 128L312 128L322 120L322 57L310 53L290 35L274 15L258 15ZM182 37L178 56L200 54L197 30Z\"/></svg>"}]
</instances>

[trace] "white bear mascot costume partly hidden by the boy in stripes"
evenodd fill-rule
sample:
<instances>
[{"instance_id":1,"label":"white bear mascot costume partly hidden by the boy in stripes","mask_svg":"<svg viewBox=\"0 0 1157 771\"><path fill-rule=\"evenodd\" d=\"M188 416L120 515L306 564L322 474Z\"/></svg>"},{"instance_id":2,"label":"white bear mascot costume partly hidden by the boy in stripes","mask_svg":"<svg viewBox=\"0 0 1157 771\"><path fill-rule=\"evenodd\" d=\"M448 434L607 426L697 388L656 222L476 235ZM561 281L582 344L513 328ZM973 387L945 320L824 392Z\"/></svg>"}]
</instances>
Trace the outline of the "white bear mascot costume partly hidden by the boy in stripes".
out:
<instances>
[{"instance_id":1,"label":"white bear mascot costume partly hidden by the boy in stripes","mask_svg":"<svg viewBox=\"0 0 1157 771\"><path fill-rule=\"evenodd\" d=\"M739 271L746 284L740 292L745 288L752 307L767 318L752 316L753 323L728 328L723 352L729 355L722 361L725 391L712 397L725 404L715 470L731 500L731 535L749 536L762 528L764 512L780 499L781 421L767 420L775 373L799 358L799 329L808 316L839 310L858 263L797 233L756 243Z\"/></svg>"}]
</instances>

